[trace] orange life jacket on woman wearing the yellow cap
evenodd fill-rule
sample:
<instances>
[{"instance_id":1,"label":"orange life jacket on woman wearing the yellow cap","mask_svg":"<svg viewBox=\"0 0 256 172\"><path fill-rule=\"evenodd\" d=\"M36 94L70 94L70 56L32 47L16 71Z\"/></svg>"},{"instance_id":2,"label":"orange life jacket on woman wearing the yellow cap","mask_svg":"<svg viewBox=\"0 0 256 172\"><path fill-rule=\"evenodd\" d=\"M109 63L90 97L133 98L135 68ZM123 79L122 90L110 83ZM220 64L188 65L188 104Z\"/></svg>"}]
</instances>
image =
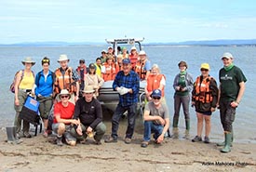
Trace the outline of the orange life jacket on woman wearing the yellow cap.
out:
<instances>
[{"instance_id":1,"label":"orange life jacket on woman wearing the yellow cap","mask_svg":"<svg viewBox=\"0 0 256 172\"><path fill-rule=\"evenodd\" d=\"M209 83L211 76L202 78L198 76L195 80L195 95L193 96L195 101L201 101L202 103L209 103L212 101L211 91L209 89Z\"/></svg>"}]
</instances>

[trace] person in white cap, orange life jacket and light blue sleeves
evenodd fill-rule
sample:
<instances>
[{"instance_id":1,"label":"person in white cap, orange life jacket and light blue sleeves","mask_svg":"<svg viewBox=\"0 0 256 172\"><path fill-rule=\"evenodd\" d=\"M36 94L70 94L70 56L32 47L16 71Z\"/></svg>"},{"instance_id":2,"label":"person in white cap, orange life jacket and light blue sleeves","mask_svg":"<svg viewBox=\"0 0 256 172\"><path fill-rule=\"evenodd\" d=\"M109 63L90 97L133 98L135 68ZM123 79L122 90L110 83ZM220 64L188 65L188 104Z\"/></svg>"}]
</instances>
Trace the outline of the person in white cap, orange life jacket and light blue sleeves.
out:
<instances>
[{"instance_id":1,"label":"person in white cap, orange life jacket and light blue sleeves","mask_svg":"<svg viewBox=\"0 0 256 172\"><path fill-rule=\"evenodd\" d=\"M146 80L151 70L151 62L147 59L145 51L139 53L139 60L135 66L135 72L139 74L141 80Z\"/></svg>"}]
</instances>

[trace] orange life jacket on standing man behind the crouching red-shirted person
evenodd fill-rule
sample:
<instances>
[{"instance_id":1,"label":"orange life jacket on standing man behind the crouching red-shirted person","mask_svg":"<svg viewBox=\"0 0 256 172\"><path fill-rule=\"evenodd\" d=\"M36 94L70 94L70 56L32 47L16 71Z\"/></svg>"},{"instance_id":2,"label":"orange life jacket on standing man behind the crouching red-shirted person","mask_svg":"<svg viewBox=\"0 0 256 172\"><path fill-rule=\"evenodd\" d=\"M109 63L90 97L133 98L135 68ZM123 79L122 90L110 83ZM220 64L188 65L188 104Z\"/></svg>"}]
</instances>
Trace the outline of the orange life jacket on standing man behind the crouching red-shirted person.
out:
<instances>
[{"instance_id":1,"label":"orange life jacket on standing man behind the crouching red-shirted person","mask_svg":"<svg viewBox=\"0 0 256 172\"><path fill-rule=\"evenodd\" d=\"M59 94L61 93L61 89L67 89L70 93L75 93L76 91L76 84L74 79L72 78L72 68L69 67L66 69L64 75L61 73L61 69L58 68L55 71L56 79L54 82L54 92Z\"/></svg>"}]
</instances>

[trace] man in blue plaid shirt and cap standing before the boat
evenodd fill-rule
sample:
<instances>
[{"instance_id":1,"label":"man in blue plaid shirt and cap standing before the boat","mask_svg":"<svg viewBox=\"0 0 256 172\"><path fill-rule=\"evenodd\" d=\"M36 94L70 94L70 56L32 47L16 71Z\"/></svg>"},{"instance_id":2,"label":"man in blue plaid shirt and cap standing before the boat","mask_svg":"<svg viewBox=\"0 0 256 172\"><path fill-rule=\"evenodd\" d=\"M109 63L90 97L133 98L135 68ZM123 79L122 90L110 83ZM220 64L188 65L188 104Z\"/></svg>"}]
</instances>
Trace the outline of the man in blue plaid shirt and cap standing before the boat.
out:
<instances>
[{"instance_id":1,"label":"man in blue plaid shirt and cap standing before the boat","mask_svg":"<svg viewBox=\"0 0 256 172\"><path fill-rule=\"evenodd\" d=\"M131 70L129 59L123 60L123 71L119 71L116 74L113 89L119 93L119 103L112 117L111 137L105 139L105 142L117 142L119 120L122 114L128 111L128 128L125 143L129 144L134 133L140 89L139 75Z\"/></svg>"}]
</instances>

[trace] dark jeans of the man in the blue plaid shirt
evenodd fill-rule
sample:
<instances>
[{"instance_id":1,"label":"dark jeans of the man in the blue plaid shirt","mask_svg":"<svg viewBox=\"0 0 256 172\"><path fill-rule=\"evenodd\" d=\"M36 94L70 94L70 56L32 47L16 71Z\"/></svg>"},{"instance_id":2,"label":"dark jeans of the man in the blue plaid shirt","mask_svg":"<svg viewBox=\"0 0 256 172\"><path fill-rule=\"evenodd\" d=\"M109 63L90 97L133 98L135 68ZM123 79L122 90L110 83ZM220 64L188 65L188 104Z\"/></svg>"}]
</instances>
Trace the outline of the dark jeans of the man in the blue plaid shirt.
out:
<instances>
[{"instance_id":1,"label":"dark jeans of the man in the blue plaid shirt","mask_svg":"<svg viewBox=\"0 0 256 172\"><path fill-rule=\"evenodd\" d=\"M120 104L117 105L115 112L112 117L112 138L117 139L117 130L119 126L119 121L122 116L122 114L126 111L128 111L128 128L126 132L126 138L131 139L134 127L135 127L135 119L136 119L136 108L137 104L132 104L128 106L121 106Z\"/></svg>"}]
</instances>

